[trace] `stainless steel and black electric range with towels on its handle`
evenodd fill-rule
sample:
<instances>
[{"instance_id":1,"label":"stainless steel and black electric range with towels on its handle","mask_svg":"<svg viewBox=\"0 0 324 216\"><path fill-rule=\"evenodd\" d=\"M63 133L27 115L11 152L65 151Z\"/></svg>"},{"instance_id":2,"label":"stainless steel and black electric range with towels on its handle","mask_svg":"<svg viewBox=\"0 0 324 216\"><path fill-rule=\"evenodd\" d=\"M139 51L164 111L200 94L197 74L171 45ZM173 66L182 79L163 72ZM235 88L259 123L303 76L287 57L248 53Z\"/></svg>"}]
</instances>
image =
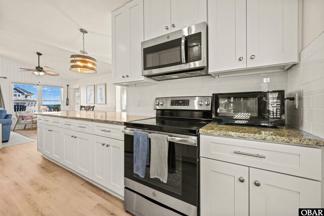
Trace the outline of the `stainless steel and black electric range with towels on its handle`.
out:
<instances>
[{"instance_id":1,"label":"stainless steel and black electric range with towels on its handle","mask_svg":"<svg viewBox=\"0 0 324 216\"><path fill-rule=\"evenodd\" d=\"M156 98L156 117L125 123L125 202L135 215L197 215L199 128L212 121L212 97ZM134 131L168 135L168 180L134 173ZM150 137L150 135L149 135ZM150 144L151 145L151 144Z\"/></svg>"}]
</instances>

